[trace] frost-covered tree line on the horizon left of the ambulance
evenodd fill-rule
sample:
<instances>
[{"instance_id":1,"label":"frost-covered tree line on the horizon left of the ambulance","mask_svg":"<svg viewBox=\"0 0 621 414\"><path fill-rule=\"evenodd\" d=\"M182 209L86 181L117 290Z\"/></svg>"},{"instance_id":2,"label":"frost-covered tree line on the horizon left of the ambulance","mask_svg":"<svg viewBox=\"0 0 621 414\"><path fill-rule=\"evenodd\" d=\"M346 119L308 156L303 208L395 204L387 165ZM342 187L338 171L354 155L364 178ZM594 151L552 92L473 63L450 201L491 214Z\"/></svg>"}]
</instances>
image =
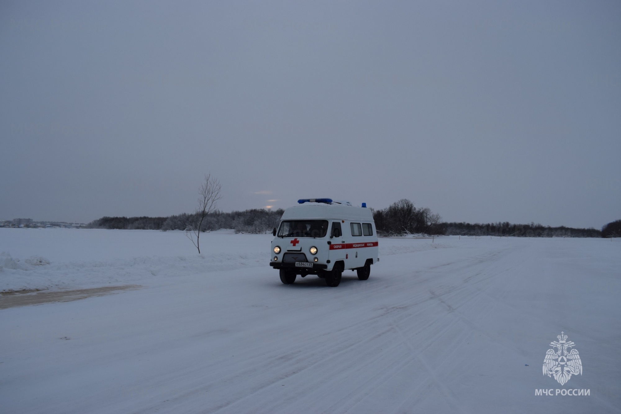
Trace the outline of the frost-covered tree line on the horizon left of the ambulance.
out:
<instances>
[{"instance_id":1,"label":"frost-covered tree line on the horizon left of the ambulance","mask_svg":"<svg viewBox=\"0 0 621 414\"><path fill-rule=\"evenodd\" d=\"M278 225L284 210L252 209L229 213L216 210L202 223L202 231L232 228L237 233L270 233ZM86 225L87 228L119 228L137 230L194 230L199 214L179 214L170 217L102 217Z\"/></svg>"}]
</instances>

